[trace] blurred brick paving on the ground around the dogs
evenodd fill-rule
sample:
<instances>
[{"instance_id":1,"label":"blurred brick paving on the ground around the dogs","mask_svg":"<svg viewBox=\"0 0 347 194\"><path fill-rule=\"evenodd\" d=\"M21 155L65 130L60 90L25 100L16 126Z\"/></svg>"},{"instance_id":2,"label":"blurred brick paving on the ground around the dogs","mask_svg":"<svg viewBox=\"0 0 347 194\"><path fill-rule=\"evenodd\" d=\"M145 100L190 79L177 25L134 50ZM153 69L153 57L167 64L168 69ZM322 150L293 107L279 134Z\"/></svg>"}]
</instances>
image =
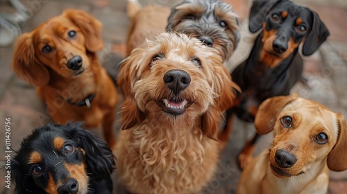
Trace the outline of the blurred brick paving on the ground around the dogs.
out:
<instances>
[{"instance_id":1,"label":"blurred brick paving on the ground around the dogs","mask_svg":"<svg viewBox=\"0 0 347 194\"><path fill-rule=\"evenodd\" d=\"M38 24L49 17L60 15L65 8L78 8L92 13L103 23L103 40L105 48L100 52L101 62L106 68L112 68L124 55L126 33L129 20L126 17L126 0L26 0L22 1L31 10L31 17L26 23L21 24L22 32L33 30ZM142 0L142 5L147 3L160 3L173 6L179 0ZM248 15L251 1L228 0L232 3L240 19ZM305 98L323 103L335 112L341 112L347 117L347 1L344 0L305 0L298 1L312 10L319 12L320 17L330 29L331 36L321 49L309 58L305 58L304 76L310 87L298 83L292 92ZM3 12L13 12L13 8L6 0L0 0L0 15ZM38 113L45 110L44 103L37 98L34 87L18 80L10 70L12 60L12 45L0 47L0 123L5 124L5 118L12 119L12 148L19 148L23 137L31 129L40 127L51 120L39 119ZM234 129L230 136L227 148L221 152L219 172L221 177L214 179L205 189L205 193L235 193L240 170L236 165L237 154L246 139L253 136L254 127L235 118ZM116 125L117 128L117 125ZM118 129L116 129L118 130ZM97 132L97 131L96 131ZM3 142L4 130L0 137ZM255 155L267 148L272 141L272 134L262 136L257 142ZM3 161L4 143L0 146L0 160ZM0 193L10 193L5 188L3 170L0 171ZM115 191L126 193L124 188L117 184L115 177ZM12 185L13 186L13 185ZM329 193L347 193L347 172L330 173Z\"/></svg>"}]
</instances>

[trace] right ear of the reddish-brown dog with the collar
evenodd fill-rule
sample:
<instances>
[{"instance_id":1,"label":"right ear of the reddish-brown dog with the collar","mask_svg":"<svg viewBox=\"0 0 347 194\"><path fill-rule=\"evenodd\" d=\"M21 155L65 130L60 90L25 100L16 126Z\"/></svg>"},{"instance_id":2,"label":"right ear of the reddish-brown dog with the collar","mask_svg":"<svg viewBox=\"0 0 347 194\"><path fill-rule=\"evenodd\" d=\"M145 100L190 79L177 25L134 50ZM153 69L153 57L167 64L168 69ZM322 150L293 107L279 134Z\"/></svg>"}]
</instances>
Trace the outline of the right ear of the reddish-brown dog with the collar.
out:
<instances>
[{"instance_id":1,"label":"right ear of the reddish-brown dog with the collar","mask_svg":"<svg viewBox=\"0 0 347 194\"><path fill-rule=\"evenodd\" d=\"M65 10L64 14L82 30L85 35L85 48L88 51L95 53L103 48L100 21L83 10Z\"/></svg>"}]
</instances>

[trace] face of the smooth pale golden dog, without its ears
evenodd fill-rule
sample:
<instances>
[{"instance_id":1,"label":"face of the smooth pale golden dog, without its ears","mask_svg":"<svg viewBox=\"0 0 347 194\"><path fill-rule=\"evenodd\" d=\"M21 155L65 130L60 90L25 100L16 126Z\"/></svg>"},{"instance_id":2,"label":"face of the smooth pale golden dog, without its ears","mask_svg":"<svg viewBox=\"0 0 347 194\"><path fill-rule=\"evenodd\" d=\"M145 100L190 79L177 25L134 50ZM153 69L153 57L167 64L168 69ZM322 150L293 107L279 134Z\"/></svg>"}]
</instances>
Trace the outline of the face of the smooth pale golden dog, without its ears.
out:
<instances>
[{"instance_id":1,"label":"face of the smooth pale golden dog, without its ears","mask_svg":"<svg viewBox=\"0 0 347 194\"><path fill-rule=\"evenodd\" d=\"M326 164L339 133L334 112L319 103L298 98L274 119L274 140L269 154L274 175L301 175L310 173L307 171L312 166Z\"/></svg>"}]
</instances>

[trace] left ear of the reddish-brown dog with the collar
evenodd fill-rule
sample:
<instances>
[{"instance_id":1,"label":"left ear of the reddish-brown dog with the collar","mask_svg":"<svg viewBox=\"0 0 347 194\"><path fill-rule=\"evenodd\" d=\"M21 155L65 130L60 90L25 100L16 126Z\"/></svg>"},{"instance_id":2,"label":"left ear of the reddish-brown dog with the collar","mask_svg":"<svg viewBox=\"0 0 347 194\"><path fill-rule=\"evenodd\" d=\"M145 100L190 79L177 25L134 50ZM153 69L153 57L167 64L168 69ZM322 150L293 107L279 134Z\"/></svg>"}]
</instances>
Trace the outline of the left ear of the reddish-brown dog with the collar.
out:
<instances>
[{"instance_id":1,"label":"left ear of the reddish-brown dog with the collar","mask_svg":"<svg viewBox=\"0 0 347 194\"><path fill-rule=\"evenodd\" d=\"M49 82L49 72L35 56L31 33L18 37L15 43L12 69L17 76L31 85L44 86Z\"/></svg>"}]
</instances>

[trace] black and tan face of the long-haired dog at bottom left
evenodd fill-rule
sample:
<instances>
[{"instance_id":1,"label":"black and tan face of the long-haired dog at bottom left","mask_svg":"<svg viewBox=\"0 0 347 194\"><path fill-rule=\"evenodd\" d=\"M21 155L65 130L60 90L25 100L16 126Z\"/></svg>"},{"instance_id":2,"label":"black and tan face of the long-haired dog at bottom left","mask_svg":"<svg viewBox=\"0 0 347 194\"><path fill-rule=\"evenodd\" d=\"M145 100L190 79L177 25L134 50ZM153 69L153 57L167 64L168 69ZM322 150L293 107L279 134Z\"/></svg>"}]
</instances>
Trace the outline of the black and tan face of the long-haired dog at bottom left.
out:
<instances>
[{"instance_id":1,"label":"black and tan face of the long-haired dog at bottom left","mask_svg":"<svg viewBox=\"0 0 347 194\"><path fill-rule=\"evenodd\" d=\"M85 151L59 134L44 134L28 145L24 168L29 179L46 193L87 193ZM37 191L33 191L34 193Z\"/></svg>"}]
</instances>

